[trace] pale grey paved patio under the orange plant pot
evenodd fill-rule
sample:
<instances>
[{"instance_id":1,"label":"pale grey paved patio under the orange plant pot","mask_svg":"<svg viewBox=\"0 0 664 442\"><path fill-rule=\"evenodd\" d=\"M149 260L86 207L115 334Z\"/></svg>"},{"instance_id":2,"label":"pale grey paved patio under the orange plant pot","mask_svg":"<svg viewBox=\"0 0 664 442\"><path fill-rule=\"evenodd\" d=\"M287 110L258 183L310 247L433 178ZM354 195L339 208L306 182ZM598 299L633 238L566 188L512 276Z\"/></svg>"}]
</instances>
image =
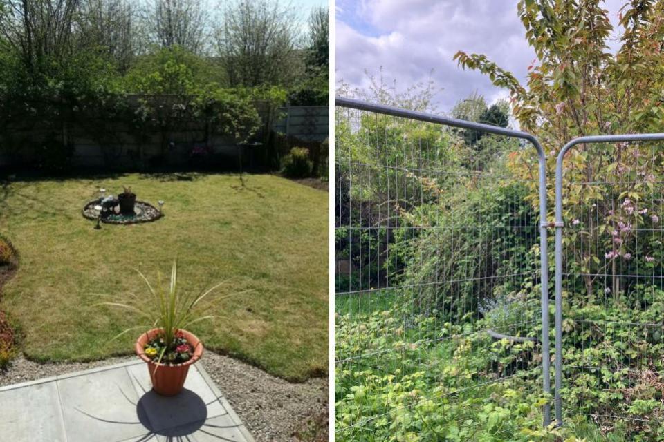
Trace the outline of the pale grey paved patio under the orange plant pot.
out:
<instances>
[{"instance_id":1,"label":"pale grey paved patio under the orange plant pot","mask_svg":"<svg viewBox=\"0 0 664 442\"><path fill-rule=\"evenodd\" d=\"M169 398L151 390L142 361L1 387L0 434L17 442L253 442L199 365Z\"/></svg>"}]
</instances>

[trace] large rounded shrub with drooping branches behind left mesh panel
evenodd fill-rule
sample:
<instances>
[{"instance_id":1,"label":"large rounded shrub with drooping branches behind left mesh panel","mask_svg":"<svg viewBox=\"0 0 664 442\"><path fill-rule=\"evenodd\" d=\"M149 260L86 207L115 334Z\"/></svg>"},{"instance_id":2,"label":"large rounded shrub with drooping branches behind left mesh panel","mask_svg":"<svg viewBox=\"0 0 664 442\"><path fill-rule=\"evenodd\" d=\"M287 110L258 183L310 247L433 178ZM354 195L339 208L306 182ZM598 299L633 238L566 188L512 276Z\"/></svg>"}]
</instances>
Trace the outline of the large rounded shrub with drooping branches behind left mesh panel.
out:
<instances>
[{"instance_id":1,"label":"large rounded shrub with drooping branches behind left mesh panel","mask_svg":"<svg viewBox=\"0 0 664 442\"><path fill-rule=\"evenodd\" d=\"M438 204L402 215L390 250L405 257L404 285L421 287L414 294L416 306L457 318L460 312L477 314L485 300L521 291L522 283L532 289L523 275L539 268L538 238L526 188L517 182L474 187L471 178L459 180L449 193Z\"/></svg>"}]
</instances>

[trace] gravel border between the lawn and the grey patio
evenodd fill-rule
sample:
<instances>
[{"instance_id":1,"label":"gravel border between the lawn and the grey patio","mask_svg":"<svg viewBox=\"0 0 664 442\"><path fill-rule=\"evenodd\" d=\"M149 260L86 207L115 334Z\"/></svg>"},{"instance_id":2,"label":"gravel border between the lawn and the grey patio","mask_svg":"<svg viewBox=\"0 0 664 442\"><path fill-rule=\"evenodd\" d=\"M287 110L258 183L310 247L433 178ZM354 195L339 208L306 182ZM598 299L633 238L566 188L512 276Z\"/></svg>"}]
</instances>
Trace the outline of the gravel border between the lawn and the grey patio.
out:
<instances>
[{"instance_id":1,"label":"gravel border between the lawn and the grey patio","mask_svg":"<svg viewBox=\"0 0 664 442\"><path fill-rule=\"evenodd\" d=\"M136 356L109 358L89 363L36 363L23 356L0 371L0 386L39 378L77 372L134 361ZM199 362L228 399L237 415L258 442L297 441L299 434L306 441L307 428L317 418L327 414L328 381L310 379L304 383L289 383L271 376L261 369L237 359L206 351ZM324 425L326 425L326 421ZM327 428L323 439L327 440ZM319 433L320 436L320 433Z\"/></svg>"}]
</instances>

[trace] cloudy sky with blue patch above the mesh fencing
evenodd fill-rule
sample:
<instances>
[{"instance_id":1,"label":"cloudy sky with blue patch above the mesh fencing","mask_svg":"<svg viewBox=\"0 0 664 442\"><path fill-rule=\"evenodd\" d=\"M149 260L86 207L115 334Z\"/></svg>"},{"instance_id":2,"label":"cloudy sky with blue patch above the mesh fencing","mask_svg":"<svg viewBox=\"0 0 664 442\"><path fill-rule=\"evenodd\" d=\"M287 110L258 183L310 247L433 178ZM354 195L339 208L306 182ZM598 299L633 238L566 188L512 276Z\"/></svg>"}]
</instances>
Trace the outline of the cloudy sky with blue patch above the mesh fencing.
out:
<instances>
[{"instance_id":1,"label":"cloudy sky with blue patch above the mesh fencing","mask_svg":"<svg viewBox=\"0 0 664 442\"><path fill-rule=\"evenodd\" d=\"M605 1L614 28L623 3ZM489 103L508 97L481 73L457 67L458 50L486 54L522 83L535 58L516 0L336 0L335 20L337 82L366 88L365 69L378 73L382 66L383 77L402 89L426 82L433 69L434 84L443 89L436 95L439 111L475 90Z\"/></svg>"}]
</instances>

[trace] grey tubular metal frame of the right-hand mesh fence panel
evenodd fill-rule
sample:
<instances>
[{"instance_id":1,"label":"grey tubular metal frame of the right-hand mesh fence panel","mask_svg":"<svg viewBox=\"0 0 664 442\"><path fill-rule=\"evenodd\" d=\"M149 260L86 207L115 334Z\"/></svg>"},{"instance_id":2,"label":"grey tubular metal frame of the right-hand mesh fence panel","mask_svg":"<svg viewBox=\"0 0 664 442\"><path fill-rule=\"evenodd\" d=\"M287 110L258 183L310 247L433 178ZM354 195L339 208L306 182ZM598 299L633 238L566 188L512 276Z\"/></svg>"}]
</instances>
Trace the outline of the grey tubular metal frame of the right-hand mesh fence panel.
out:
<instances>
[{"instance_id":1,"label":"grey tubular metal frame of the right-hand mesh fence panel","mask_svg":"<svg viewBox=\"0 0 664 442\"><path fill-rule=\"evenodd\" d=\"M664 140L664 133L591 135L565 144L555 162L555 419L562 426L562 160L571 148L582 143L621 143Z\"/></svg>"}]
</instances>

